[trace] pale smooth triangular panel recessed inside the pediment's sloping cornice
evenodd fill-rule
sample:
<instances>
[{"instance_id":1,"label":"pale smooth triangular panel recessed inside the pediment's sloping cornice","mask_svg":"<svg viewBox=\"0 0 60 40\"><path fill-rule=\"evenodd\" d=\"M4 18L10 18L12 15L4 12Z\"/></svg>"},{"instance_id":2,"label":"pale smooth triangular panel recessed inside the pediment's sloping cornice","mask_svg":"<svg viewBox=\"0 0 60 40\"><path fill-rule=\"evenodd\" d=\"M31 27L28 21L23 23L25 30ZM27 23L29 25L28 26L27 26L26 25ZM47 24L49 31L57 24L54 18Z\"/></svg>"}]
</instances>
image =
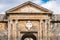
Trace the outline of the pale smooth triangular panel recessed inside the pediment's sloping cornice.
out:
<instances>
[{"instance_id":1,"label":"pale smooth triangular panel recessed inside the pediment's sloping cornice","mask_svg":"<svg viewBox=\"0 0 60 40\"><path fill-rule=\"evenodd\" d=\"M44 11L37 9L34 6L26 5L22 8L13 10L12 12L29 12L29 13L30 12L32 12L32 13L35 12L36 13L36 12L44 12Z\"/></svg>"}]
</instances>

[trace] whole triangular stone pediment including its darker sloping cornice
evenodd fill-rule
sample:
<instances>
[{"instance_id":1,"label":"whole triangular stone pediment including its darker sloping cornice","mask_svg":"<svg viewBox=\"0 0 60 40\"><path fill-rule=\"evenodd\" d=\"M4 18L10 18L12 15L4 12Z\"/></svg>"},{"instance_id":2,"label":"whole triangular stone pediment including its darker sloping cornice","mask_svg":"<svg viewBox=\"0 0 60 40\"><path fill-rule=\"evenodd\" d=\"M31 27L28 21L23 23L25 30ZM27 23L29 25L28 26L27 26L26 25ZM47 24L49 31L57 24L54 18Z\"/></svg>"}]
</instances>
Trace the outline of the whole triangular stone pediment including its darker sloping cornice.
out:
<instances>
[{"instance_id":1,"label":"whole triangular stone pediment including its darker sloping cornice","mask_svg":"<svg viewBox=\"0 0 60 40\"><path fill-rule=\"evenodd\" d=\"M7 13L45 13L45 12L51 13L52 11L28 1L6 12Z\"/></svg>"}]
</instances>

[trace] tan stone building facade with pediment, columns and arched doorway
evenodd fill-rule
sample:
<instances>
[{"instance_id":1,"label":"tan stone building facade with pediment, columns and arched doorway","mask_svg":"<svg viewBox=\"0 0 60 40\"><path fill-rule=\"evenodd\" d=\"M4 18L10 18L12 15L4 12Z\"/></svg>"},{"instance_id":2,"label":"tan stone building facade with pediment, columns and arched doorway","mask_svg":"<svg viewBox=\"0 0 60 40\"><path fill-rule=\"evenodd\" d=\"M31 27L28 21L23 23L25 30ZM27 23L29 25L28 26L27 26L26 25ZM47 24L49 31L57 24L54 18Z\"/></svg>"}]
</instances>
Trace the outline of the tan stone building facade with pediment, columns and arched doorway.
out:
<instances>
[{"instance_id":1,"label":"tan stone building facade with pediment, columns and arched doorway","mask_svg":"<svg viewBox=\"0 0 60 40\"><path fill-rule=\"evenodd\" d=\"M2 14L0 29L7 40L59 40L60 21L56 17L52 11L28 1Z\"/></svg>"}]
</instances>

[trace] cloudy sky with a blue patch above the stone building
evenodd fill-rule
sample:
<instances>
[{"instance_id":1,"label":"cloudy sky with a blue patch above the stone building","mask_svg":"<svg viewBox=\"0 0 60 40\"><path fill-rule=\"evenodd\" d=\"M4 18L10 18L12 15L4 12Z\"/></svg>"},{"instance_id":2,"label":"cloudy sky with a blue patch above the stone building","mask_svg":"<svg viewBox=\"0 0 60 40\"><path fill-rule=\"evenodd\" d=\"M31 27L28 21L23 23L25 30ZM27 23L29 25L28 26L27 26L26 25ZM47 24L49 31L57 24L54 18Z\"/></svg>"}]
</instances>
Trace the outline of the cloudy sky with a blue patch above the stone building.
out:
<instances>
[{"instance_id":1,"label":"cloudy sky with a blue patch above the stone building","mask_svg":"<svg viewBox=\"0 0 60 40\"><path fill-rule=\"evenodd\" d=\"M0 0L0 14L5 14L6 10L16 7L24 2L32 1L44 8L60 14L60 0Z\"/></svg>"}]
</instances>

